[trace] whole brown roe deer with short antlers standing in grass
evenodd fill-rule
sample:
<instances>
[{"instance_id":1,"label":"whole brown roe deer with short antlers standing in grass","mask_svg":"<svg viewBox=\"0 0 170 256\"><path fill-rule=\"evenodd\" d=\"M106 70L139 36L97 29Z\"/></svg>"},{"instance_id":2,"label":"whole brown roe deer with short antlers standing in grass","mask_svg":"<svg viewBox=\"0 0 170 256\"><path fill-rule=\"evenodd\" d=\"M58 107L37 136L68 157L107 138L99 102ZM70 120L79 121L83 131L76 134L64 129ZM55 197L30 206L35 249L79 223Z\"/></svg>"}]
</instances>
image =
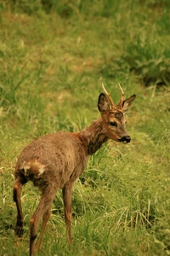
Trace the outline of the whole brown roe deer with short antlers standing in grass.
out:
<instances>
[{"instance_id":1,"label":"whole brown roe deer with short antlers standing in grass","mask_svg":"<svg viewBox=\"0 0 170 256\"><path fill-rule=\"evenodd\" d=\"M103 143L112 139L116 142L130 143L127 134L124 113L131 106L135 95L124 100L121 85L121 100L115 106L111 95L105 90L99 95L98 108L101 117L92 125L77 133L57 132L37 138L29 143L21 152L15 167L14 201L17 207L15 234L22 236L24 217L20 195L22 186L32 181L42 191L41 200L30 220L30 255L35 253L38 224L42 218L42 235L38 250L42 245L42 237L57 189L62 189L65 224L71 242L71 197L72 188L77 177L85 169L88 155L94 154Z\"/></svg>"}]
</instances>

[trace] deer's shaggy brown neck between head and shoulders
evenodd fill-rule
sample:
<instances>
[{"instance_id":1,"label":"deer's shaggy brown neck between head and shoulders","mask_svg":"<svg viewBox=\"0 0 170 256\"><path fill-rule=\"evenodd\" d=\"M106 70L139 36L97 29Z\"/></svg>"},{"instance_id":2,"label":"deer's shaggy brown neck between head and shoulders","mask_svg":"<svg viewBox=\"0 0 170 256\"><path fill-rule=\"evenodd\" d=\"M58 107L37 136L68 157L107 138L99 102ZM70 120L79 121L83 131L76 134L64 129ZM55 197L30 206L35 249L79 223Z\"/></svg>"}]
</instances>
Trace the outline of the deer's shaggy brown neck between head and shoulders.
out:
<instances>
[{"instance_id":1,"label":"deer's shaggy brown neck between head and shoulders","mask_svg":"<svg viewBox=\"0 0 170 256\"><path fill-rule=\"evenodd\" d=\"M108 140L105 133L102 119L95 120L92 125L79 132L79 137L88 154L94 154Z\"/></svg>"}]
</instances>

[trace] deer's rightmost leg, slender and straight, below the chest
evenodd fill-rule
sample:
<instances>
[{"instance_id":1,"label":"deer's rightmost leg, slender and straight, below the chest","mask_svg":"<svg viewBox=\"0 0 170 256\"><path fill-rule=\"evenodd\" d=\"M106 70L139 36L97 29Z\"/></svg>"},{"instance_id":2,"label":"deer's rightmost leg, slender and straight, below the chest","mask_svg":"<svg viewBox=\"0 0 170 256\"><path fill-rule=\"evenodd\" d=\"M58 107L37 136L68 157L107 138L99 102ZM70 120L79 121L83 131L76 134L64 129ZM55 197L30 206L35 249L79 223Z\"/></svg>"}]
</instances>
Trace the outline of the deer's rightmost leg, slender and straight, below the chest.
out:
<instances>
[{"instance_id":1,"label":"deer's rightmost leg, slender and straight, below the chest","mask_svg":"<svg viewBox=\"0 0 170 256\"><path fill-rule=\"evenodd\" d=\"M72 199L72 187L73 183L70 181L65 184L63 188L63 202L64 202L64 212L65 212L65 225L68 230L69 241L72 242L71 237L71 199Z\"/></svg>"}]
</instances>

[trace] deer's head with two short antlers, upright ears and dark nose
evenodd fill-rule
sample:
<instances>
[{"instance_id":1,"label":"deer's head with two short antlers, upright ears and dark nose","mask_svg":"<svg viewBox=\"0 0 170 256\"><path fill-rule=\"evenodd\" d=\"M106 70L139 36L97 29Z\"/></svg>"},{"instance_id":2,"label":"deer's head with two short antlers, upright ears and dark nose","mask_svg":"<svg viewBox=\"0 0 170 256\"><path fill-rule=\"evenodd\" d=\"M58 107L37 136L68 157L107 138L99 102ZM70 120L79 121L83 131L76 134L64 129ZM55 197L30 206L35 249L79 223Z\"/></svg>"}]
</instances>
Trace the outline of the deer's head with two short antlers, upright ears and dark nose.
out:
<instances>
[{"instance_id":1,"label":"deer's head with two short antlers, upright ears and dark nose","mask_svg":"<svg viewBox=\"0 0 170 256\"><path fill-rule=\"evenodd\" d=\"M124 100L124 92L119 84L121 99L115 106L110 93L105 90L104 84L102 85L105 94L101 93L99 95L98 108L103 119L105 133L108 138L116 142L130 143L131 137L126 131L126 119L124 117L124 113L127 112L128 108L130 108L136 96L133 95Z\"/></svg>"}]
</instances>

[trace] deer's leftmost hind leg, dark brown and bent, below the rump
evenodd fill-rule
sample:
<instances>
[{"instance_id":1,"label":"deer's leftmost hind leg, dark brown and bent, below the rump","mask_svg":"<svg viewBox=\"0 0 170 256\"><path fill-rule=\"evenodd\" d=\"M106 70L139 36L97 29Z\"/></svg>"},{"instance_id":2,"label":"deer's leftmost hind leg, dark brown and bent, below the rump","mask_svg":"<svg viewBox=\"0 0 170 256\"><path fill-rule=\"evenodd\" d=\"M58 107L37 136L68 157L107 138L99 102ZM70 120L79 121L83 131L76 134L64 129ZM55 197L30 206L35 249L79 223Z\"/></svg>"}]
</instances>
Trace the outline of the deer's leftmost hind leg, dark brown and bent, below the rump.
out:
<instances>
[{"instance_id":1,"label":"deer's leftmost hind leg, dark brown and bent, below the rump","mask_svg":"<svg viewBox=\"0 0 170 256\"><path fill-rule=\"evenodd\" d=\"M23 186L23 183L21 182L20 177L17 177L15 179L14 188L13 188L13 198L17 207L17 221L15 224L14 232L16 236L19 236L19 237L21 237L24 232L23 230L24 217L23 217L21 201L20 201L22 186Z\"/></svg>"}]
</instances>

